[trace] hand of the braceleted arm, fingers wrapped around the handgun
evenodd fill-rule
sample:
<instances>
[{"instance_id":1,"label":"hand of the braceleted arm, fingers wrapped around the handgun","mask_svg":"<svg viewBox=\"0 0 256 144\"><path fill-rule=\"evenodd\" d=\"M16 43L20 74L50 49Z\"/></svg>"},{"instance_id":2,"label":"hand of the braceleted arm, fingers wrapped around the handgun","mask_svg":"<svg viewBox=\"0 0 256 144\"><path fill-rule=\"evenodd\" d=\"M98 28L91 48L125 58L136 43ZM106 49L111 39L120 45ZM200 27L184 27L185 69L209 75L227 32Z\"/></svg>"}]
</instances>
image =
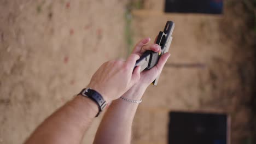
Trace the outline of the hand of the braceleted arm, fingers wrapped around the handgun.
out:
<instances>
[{"instance_id":1,"label":"hand of the braceleted arm, fingers wrapped around the handgun","mask_svg":"<svg viewBox=\"0 0 256 144\"><path fill-rule=\"evenodd\" d=\"M150 38L145 38L139 41L136 44L135 48L132 51L133 55L141 56L147 50L152 50L154 52L161 52L161 47L158 44L148 44ZM152 83L158 75L160 75L162 68L164 68L165 63L167 62L168 57L170 57L170 53L165 53L162 55L152 69L144 70L141 72L140 79L132 86L132 88L127 91L123 97L133 100L141 99L143 93L146 91L147 87Z\"/></svg>"}]
</instances>

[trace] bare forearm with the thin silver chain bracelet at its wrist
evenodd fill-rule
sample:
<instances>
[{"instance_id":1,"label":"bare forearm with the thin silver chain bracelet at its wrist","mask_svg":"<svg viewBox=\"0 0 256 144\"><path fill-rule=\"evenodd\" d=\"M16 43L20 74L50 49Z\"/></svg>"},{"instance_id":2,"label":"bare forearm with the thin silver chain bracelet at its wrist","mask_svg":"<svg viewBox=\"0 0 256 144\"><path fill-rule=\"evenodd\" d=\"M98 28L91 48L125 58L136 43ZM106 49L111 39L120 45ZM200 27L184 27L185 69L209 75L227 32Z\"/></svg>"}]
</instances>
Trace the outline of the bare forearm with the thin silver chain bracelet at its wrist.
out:
<instances>
[{"instance_id":1,"label":"bare forearm with the thin silver chain bracelet at its wrist","mask_svg":"<svg viewBox=\"0 0 256 144\"><path fill-rule=\"evenodd\" d=\"M141 89L130 89L123 97L139 100L144 91ZM94 140L98 143L130 143L132 122L138 104L130 103L123 99L114 100L106 111Z\"/></svg>"}]
</instances>

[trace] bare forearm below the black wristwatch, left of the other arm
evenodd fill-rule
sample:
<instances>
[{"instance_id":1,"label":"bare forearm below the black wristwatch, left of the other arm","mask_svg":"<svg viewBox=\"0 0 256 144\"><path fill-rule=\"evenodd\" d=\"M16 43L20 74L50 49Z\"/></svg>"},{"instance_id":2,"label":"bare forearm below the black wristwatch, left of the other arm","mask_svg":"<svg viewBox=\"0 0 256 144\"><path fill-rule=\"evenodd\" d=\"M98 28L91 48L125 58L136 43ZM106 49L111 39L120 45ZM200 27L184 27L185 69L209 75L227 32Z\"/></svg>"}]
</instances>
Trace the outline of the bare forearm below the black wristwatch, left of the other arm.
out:
<instances>
[{"instance_id":1,"label":"bare forearm below the black wristwatch, left of the other arm","mask_svg":"<svg viewBox=\"0 0 256 144\"><path fill-rule=\"evenodd\" d=\"M80 143L97 112L94 101L79 95L45 119L25 143Z\"/></svg>"}]
</instances>

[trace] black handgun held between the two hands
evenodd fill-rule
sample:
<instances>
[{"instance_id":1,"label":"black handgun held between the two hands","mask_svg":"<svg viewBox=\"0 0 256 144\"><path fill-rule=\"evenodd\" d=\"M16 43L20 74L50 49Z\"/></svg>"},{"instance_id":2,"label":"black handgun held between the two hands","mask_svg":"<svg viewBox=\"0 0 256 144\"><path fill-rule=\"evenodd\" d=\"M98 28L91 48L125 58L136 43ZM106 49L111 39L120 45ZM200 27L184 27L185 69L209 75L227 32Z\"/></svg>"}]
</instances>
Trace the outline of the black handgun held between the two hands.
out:
<instances>
[{"instance_id":1,"label":"black handgun held between the two hands","mask_svg":"<svg viewBox=\"0 0 256 144\"><path fill-rule=\"evenodd\" d=\"M136 66L141 66L141 71L153 68L157 63L161 55L169 51L172 42L172 32L174 29L174 23L167 21L164 32L160 31L156 44L161 46L161 52L146 51L136 62ZM153 81L153 85L157 85L159 76Z\"/></svg>"}]
</instances>

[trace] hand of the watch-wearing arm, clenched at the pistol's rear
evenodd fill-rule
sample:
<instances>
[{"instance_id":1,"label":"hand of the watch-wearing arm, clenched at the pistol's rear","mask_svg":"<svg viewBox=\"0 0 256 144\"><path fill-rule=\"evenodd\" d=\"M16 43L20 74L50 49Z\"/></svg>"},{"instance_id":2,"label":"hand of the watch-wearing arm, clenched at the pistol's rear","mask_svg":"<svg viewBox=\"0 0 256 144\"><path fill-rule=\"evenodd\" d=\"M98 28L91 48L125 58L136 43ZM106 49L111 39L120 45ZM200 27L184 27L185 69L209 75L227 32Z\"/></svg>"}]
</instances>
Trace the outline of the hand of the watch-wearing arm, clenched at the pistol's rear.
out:
<instances>
[{"instance_id":1,"label":"hand of the watch-wearing arm, clenched at the pistol's rear","mask_svg":"<svg viewBox=\"0 0 256 144\"><path fill-rule=\"evenodd\" d=\"M103 63L92 76L88 88L94 89L107 101L118 99L139 80L140 67L134 65L139 55L133 53L127 61Z\"/></svg>"}]
</instances>

